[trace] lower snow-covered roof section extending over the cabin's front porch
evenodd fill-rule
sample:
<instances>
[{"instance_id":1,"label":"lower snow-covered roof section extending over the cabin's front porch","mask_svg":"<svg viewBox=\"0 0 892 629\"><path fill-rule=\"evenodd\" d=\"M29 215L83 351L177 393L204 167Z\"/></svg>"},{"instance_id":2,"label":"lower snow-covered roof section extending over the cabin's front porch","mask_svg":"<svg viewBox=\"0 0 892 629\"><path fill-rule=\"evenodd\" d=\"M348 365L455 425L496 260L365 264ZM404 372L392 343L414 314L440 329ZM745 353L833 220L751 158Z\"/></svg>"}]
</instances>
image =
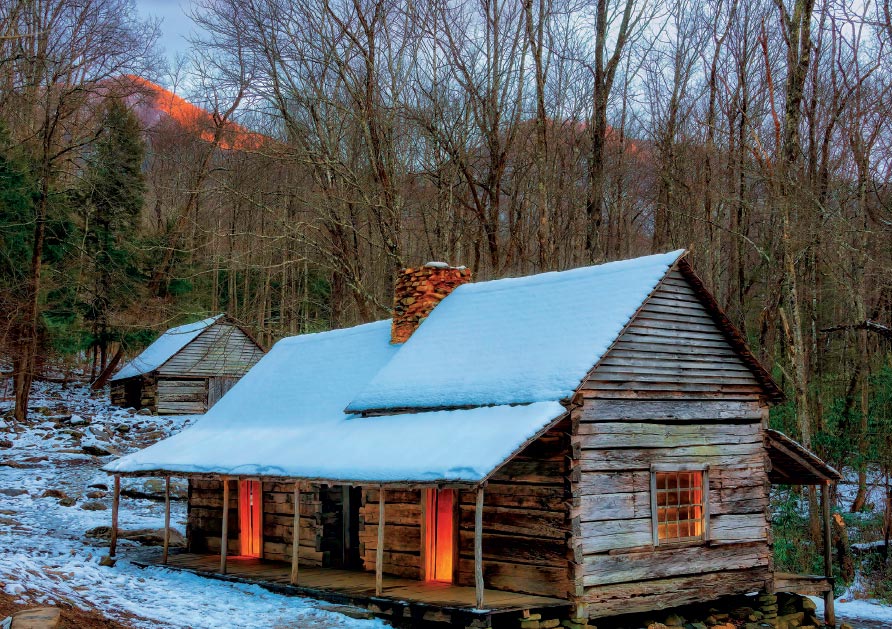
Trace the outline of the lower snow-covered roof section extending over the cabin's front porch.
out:
<instances>
[{"instance_id":1,"label":"lower snow-covered roof section extending over the cabin's front porch","mask_svg":"<svg viewBox=\"0 0 892 629\"><path fill-rule=\"evenodd\" d=\"M399 351L390 344L390 321L279 341L193 427L105 469L474 482L566 413L548 401L345 414L350 399Z\"/></svg>"}]
</instances>

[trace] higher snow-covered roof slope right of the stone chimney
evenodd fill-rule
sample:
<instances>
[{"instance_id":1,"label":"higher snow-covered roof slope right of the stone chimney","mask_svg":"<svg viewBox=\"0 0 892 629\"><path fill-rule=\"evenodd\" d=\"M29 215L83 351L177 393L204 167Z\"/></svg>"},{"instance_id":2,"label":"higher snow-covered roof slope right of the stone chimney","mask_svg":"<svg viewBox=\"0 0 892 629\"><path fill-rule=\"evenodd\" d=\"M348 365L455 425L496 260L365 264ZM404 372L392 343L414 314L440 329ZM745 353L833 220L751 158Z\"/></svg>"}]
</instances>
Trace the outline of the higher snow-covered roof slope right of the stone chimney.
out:
<instances>
[{"instance_id":1,"label":"higher snow-covered roof slope right of the stone chimney","mask_svg":"<svg viewBox=\"0 0 892 629\"><path fill-rule=\"evenodd\" d=\"M347 410L569 398L683 253L459 286Z\"/></svg>"}]
</instances>

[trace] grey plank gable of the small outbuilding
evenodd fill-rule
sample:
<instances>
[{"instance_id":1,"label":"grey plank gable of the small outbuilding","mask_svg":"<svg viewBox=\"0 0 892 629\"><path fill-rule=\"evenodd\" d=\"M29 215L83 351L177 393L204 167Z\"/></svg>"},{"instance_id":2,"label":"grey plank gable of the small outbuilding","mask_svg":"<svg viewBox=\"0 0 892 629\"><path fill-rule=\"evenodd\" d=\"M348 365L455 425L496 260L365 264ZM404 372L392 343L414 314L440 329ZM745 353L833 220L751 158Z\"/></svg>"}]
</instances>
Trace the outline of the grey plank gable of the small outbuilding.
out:
<instances>
[{"instance_id":1,"label":"grey plank gable of the small outbuilding","mask_svg":"<svg viewBox=\"0 0 892 629\"><path fill-rule=\"evenodd\" d=\"M243 376L263 352L242 330L220 322L207 328L158 368L163 376Z\"/></svg>"}]
</instances>

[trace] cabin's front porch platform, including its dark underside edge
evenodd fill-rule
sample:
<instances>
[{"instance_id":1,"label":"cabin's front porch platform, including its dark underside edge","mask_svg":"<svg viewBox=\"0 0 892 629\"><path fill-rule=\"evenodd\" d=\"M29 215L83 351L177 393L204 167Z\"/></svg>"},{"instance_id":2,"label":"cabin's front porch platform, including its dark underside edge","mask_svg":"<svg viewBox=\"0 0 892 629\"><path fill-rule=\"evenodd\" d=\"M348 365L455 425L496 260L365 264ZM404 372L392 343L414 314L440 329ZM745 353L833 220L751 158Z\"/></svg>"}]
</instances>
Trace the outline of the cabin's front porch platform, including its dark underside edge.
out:
<instances>
[{"instance_id":1,"label":"cabin's front porch platform, including its dark underside edge","mask_svg":"<svg viewBox=\"0 0 892 629\"><path fill-rule=\"evenodd\" d=\"M254 583L282 594L308 596L337 604L365 607L394 619L448 622L454 626L490 627L494 619L521 617L551 610L557 616L570 602L557 598L484 590L484 609L476 608L473 587L383 576L376 594L375 573L335 568L300 568L297 585L291 584L291 566L254 557L228 557L226 574L219 571L220 556L171 551L166 563L162 553L137 551L131 561L141 567L161 566L204 577ZM547 613L547 612L546 612ZM565 612L566 613L566 612Z\"/></svg>"}]
</instances>

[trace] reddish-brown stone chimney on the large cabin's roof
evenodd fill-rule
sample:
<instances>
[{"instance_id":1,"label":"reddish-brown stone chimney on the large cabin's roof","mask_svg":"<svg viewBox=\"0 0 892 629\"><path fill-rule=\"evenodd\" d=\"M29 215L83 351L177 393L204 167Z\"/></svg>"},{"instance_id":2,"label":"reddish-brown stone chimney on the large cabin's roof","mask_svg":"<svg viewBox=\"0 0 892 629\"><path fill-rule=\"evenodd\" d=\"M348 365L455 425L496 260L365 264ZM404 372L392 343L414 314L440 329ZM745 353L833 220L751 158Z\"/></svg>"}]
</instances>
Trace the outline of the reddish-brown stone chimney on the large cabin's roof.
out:
<instances>
[{"instance_id":1,"label":"reddish-brown stone chimney on the large cabin's roof","mask_svg":"<svg viewBox=\"0 0 892 629\"><path fill-rule=\"evenodd\" d=\"M400 271L393 292L390 342L405 343L446 295L470 281L470 269L445 262L428 262Z\"/></svg>"}]
</instances>

